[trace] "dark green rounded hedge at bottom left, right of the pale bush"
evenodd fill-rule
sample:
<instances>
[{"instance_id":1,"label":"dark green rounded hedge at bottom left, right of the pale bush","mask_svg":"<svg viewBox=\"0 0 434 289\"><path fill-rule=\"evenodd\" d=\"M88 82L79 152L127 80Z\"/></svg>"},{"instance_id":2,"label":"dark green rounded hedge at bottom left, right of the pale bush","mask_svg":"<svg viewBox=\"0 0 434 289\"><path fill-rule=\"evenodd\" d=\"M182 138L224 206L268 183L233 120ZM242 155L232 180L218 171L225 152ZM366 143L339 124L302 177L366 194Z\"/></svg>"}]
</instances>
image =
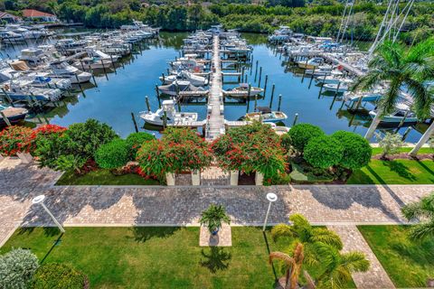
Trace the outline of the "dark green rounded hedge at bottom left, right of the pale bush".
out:
<instances>
[{"instance_id":1,"label":"dark green rounded hedge at bottom left, right of the pale bush","mask_svg":"<svg viewBox=\"0 0 434 289\"><path fill-rule=\"evenodd\" d=\"M84 289L89 288L88 277L71 266L49 263L33 275L33 289Z\"/></svg>"}]
</instances>

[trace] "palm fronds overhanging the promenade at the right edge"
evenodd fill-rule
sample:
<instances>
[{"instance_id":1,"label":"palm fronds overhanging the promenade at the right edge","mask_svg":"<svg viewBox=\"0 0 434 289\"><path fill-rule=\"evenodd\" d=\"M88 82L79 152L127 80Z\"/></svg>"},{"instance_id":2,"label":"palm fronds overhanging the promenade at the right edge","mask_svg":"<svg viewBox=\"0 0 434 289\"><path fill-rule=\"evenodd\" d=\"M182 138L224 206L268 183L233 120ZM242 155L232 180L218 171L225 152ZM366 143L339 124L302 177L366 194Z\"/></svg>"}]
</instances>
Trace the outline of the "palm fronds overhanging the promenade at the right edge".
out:
<instances>
[{"instance_id":1,"label":"palm fronds overhanging the promenade at the right edge","mask_svg":"<svg viewBox=\"0 0 434 289\"><path fill-rule=\"evenodd\" d=\"M401 211L405 219L422 219L420 224L411 228L411 240L423 241L434 238L434 193L402 207Z\"/></svg>"}]
</instances>

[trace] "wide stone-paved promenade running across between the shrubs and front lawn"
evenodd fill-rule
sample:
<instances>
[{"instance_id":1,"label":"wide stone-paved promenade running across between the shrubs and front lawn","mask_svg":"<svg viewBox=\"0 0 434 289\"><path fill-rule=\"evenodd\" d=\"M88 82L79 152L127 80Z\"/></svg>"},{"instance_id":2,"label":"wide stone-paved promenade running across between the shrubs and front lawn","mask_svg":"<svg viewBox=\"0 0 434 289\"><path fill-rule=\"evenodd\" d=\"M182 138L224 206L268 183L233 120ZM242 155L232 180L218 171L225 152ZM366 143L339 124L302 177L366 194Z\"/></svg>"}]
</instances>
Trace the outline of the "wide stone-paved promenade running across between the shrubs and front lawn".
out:
<instances>
[{"instance_id":1,"label":"wide stone-paved promenade running across between the shrubs and front lawn","mask_svg":"<svg viewBox=\"0 0 434 289\"><path fill-rule=\"evenodd\" d=\"M362 249L372 259L354 225L405 223L401 206L434 191L432 185L53 186L60 175L15 159L0 163L0 246L19 225L53 226L42 208L31 203L42 193L47 207L66 226L197 226L201 211L211 203L226 207L232 225L261 226L268 207L265 196L272 191L278 201L271 206L269 225L287 222L290 214L298 212L314 224L332 226L342 235L346 249ZM381 275L371 281L373 276L354 280L382 284Z\"/></svg>"}]
</instances>

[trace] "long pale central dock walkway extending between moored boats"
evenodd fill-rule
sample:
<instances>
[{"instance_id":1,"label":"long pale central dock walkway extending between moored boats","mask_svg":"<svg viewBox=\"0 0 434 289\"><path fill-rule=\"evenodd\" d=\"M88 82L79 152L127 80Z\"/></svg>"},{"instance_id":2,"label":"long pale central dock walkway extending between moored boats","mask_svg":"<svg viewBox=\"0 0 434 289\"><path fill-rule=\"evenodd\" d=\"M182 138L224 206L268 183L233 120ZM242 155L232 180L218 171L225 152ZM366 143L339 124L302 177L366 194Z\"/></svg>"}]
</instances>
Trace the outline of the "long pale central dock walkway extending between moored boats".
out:
<instances>
[{"instance_id":1,"label":"long pale central dock walkway extending between moored boats","mask_svg":"<svg viewBox=\"0 0 434 289\"><path fill-rule=\"evenodd\" d=\"M205 128L206 140L213 139L225 133L222 103L222 68L220 57L219 35L214 35L212 47L212 79L208 97L208 115Z\"/></svg>"}]
</instances>

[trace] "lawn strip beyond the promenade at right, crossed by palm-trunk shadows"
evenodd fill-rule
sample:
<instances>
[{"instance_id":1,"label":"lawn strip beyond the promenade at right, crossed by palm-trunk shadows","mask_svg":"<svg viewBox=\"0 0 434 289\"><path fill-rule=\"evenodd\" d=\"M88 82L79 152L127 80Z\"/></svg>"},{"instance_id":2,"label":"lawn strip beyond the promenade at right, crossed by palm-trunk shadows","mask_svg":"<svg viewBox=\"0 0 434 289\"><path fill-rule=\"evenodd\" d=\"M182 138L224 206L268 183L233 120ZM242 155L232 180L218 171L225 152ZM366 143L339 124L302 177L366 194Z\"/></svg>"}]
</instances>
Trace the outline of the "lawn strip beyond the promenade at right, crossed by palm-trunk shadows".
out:
<instances>
[{"instance_id":1,"label":"lawn strip beyond the promenade at right, crossed by palm-trunk shadows","mask_svg":"<svg viewBox=\"0 0 434 289\"><path fill-rule=\"evenodd\" d=\"M434 162L430 160L371 160L355 171L348 184L430 184L434 183Z\"/></svg>"}]
</instances>

